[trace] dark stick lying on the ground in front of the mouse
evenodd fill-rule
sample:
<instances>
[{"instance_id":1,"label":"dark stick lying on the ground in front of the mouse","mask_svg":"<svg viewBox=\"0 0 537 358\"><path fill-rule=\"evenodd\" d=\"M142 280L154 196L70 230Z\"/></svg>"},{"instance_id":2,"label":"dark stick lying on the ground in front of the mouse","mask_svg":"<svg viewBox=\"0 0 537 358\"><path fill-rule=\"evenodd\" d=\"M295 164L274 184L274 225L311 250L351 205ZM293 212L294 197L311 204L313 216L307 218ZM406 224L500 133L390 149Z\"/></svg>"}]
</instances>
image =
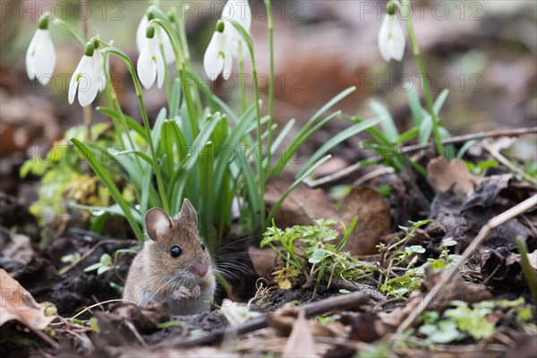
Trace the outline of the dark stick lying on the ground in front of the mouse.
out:
<instances>
[{"instance_id":1,"label":"dark stick lying on the ground in front of the mouse","mask_svg":"<svg viewBox=\"0 0 537 358\"><path fill-rule=\"evenodd\" d=\"M338 296L332 296L326 300L322 300L316 303L306 304L303 307L297 307L299 310L304 310L306 316L315 316L328 311L334 311L337 309L354 308L361 306L370 300L370 296L363 292L355 292L354 294L343 294ZM233 328L219 329L207 336L195 337L195 338L175 338L171 342L161 346L192 346L192 345L209 345L220 342L226 333L234 332L235 335L242 335L244 333L250 333L261 328L267 328L268 322L265 316L249 320L242 325Z\"/></svg>"}]
</instances>

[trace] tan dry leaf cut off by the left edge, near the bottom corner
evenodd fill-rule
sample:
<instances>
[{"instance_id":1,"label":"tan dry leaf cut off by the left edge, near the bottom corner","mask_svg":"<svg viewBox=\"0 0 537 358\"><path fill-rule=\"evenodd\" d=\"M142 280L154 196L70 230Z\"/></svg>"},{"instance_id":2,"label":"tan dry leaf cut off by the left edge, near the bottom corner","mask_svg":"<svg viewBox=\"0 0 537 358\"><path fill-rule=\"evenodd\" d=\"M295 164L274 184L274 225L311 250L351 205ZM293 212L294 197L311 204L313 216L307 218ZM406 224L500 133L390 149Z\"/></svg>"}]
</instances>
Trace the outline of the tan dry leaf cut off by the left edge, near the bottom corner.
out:
<instances>
[{"instance_id":1,"label":"tan dry leaf cut off by the left edge, near the bottom corner","mask_svg":"<svg viewBox=\"0 0 537 358\"><path fill-rule=\"evenodd\" d=\"M36 303L31 294L13 277L0 268L0 326L10 320L18 320L28 328L44 329L55 319L45 316L45 307Z\"/></svg>"}]
</instances>

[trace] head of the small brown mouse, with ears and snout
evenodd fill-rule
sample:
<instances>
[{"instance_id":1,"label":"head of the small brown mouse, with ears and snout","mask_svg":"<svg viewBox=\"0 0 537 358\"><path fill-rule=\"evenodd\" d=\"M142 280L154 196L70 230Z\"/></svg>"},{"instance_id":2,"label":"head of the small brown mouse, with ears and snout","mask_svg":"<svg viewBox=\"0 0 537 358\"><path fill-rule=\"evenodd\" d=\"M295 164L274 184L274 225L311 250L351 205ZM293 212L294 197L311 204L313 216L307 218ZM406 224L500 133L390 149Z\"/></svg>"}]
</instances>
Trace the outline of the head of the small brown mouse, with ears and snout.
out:
<instances>
[{"instance_id":1,"label":"head of the small brown mouse, with ears and snout","mask_svg":"<svg viewBox=\"0 0 537 358\"><path fill-rule=\"evenodd\" d=\"M210 255L198 234L198 215L188 199L175 217L163 209L149 209L146 230L155 270L163 276L200 281L210 272Z\"/></svg>"}]
</instances>

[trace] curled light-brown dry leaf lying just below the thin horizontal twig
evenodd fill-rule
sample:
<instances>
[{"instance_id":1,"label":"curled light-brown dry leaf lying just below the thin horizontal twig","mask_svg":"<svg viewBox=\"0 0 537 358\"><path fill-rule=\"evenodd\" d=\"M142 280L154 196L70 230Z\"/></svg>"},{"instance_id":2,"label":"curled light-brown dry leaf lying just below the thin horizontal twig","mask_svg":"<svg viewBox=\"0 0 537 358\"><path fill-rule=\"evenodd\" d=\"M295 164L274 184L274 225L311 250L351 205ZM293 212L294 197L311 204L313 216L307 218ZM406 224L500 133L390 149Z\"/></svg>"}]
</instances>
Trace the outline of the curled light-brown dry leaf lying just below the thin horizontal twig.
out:
<instances>
[{"instance_id":1,"label":"curled light-brown dry leaf lying just below the thin horizontal twig","mask_svg":"<svg viewBox=\"0 0 537 358\"><path fill-rule=\"evenodd\" d=\"M427 166L427 183L436 192L455 192L466 195L472 192L480 179L470 173L461 160L432 159Z\"/></svg>"}]
</instances>

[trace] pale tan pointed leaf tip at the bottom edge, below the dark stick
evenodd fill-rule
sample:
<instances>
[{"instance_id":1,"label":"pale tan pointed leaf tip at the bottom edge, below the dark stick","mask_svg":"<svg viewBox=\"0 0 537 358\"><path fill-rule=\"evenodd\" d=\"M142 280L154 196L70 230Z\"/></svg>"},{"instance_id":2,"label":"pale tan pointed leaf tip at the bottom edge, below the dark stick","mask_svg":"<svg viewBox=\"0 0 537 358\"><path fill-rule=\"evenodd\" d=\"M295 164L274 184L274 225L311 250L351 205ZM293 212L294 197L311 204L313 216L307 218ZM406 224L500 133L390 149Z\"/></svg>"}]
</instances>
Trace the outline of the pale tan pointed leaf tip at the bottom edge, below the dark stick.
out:
<instances>
[{"instance_id":1,"label":"pale tan pointed leaf tip at the bottom edge, below the dark stick","mask_svg":"<svg viewBox=\"0 0 537 358\"><path fill-rule=\"evenodd\" d=\"M315 352L315 339L311 334L305 311L298 312L298 317L294 320L291 336L287 339L286 348L282 354L284 358L291 357L317 357Z\"/></svg>"}]
</instances>

